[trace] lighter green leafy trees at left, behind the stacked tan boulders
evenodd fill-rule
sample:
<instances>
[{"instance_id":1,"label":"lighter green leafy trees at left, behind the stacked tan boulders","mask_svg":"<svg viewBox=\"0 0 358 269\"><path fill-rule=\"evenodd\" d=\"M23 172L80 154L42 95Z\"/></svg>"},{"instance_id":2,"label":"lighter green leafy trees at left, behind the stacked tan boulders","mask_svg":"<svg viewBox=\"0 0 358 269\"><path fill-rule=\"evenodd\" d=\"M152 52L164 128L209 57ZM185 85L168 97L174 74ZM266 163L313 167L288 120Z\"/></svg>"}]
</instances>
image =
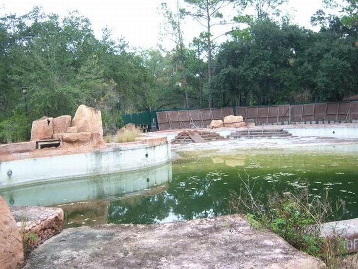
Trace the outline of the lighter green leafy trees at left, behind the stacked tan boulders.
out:
<instances>
[{"instance_id":1,"label":"lighter green leafy trees at left, behind the stacked tan boulders","mask_svg":"<svg viewBox=\"0 0 358 269\"><path fill-rule=\"evenodd\" d=\"M154 82L143 58L104 30L97 39L77 12L63 19L34 8L0 18L0 139L16 141L9 119L73 114L81 104L102 110L105 132L122 112L150 110ZM8 128L9 127L9 128ZM30 128L30 126L29 126ZM18 130L23 133L23 130ZM5 135L4 135L5 134Z\"/></svg>"}]
</instances>

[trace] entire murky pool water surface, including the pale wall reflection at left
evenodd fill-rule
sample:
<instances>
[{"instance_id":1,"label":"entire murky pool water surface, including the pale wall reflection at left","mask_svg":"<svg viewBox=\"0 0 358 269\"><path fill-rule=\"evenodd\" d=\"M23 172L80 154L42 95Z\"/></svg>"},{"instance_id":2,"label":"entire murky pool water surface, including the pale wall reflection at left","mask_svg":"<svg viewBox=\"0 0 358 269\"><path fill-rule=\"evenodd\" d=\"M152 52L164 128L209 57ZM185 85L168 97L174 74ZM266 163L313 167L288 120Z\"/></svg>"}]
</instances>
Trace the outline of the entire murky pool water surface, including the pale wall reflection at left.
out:
<instances>
[{"instance_id":1,"label":"entire murky pool water surface, including the pale wall reflection at left","mask_svg":"<svg viewBox=\"0 0 358 269\"><path fill-rule=\"evenodd\" d=\"M181 153L171 164L144 171L64 180L0 190L11 205L56 205L67 227L101 223L163 223L230 213L239 179L255 180L260 193L308 186L311 196L342 198L358 217L358 151L351 147ZM334 219L336 216L332 216Z\"/></svg>"}]
</instances>

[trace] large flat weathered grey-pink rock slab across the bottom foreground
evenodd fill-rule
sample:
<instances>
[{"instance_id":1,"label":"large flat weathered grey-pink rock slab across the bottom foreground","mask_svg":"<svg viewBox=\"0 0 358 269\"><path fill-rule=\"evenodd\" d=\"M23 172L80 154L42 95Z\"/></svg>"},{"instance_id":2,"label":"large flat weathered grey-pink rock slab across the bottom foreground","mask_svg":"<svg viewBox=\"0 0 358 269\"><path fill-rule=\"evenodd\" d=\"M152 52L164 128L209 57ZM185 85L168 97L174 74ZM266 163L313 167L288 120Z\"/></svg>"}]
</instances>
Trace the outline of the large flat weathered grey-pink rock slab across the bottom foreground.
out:
<instances>
[{"instance_id":1,"label":"large flat weathered grey-pink rock slab across the bottom foreground","mask_svg":"<svg viewBox=\"0 0 358 269\"><path fill-rule=\"evenodd\" d=\"M40 245L25 268L325 268L239 215L158 225L64 230Z\"/></svg>"}]
</instances>

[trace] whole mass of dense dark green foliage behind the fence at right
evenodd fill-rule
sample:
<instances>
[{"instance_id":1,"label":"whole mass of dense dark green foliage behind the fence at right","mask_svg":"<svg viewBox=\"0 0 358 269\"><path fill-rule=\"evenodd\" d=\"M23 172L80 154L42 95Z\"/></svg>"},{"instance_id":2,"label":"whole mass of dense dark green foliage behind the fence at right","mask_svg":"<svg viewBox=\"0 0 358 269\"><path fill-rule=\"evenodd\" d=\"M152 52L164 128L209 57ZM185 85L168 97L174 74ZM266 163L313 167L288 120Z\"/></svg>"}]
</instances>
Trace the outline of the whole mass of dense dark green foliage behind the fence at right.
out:
<instances>
[{"instance_id":1,"label":"whole mass of dense dark green foliage behind the fence at right","mask_svg":"<svg viewBox=\"0 0 358 269\"><path fill-rule=\"evenodd\" d=\"M338 101L357 93L357 47L335 32L271 20L233 32L216 56L217 106ZM307 93L307 99L298 96Z\"/></svg>"}]
</instances>

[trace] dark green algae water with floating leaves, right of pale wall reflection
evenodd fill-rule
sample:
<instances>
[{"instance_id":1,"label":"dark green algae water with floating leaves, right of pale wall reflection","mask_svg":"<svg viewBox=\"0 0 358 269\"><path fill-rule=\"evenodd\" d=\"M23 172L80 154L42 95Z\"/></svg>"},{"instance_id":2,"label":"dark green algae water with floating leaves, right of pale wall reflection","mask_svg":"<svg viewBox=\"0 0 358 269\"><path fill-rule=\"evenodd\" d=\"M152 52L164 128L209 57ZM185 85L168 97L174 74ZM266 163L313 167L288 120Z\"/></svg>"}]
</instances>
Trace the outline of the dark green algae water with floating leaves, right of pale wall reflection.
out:
<instances>
[{"instance_id":1,"label":"dark green algae water with floating leaves, right of pale wall reflection","mask_svg":"<svg viewBox=\"0 0 358 269\"><path fill-rule=\"evenodd\" d=\"M187 153L186 155L191 155ZM156 195L109 203L113 223L161 223L230 214L230 191L243 190L240 178L255 182L254 192L309 189L310 196L345 201L345 219L358 217L358 155L286 151L206 154L172 163L169 188ZM331 216L334 220L338 216Z\"/></svg>"}]
</instances>

